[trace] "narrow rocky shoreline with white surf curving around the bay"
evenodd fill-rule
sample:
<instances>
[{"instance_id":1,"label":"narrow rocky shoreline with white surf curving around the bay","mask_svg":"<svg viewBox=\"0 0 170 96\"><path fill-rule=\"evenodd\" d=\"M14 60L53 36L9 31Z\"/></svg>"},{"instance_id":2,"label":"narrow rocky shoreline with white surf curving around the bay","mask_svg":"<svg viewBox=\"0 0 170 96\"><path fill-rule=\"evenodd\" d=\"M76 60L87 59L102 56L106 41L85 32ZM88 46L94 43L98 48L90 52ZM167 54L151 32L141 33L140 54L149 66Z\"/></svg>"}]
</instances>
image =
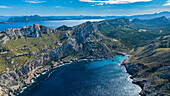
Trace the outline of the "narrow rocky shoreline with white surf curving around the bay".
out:
<instances>
[{"instance_id":1,"label":"narrow rocky shoreline with white surf curving around the bay","mask_svg":"<svg viewBox=\"0 0 170 96\"><path fill-rule=\"evenodd\" d=\"M64 65L70 64L71 62L77 62L77 61L83 61L83 60L101 60L101 59L109 59L109 58L113 58L114 56L126 56L127 58L124 59L124 61L122 62L121 65L124 65L125 68L127 69L126 65L128 62L130 62L130 58L133 55L127 55L126 53L121 53L121 52L117 52L116 55L112 55L112 56L101 56L101 57L94 57L94 56L89 56L89 57L81 57L81 58L75 58L75 59L70 59L70 60L64 60L64 61L60 61L60 62L51 62L51 66L46 66L44 68L41 68L39 71L36 71L36 73L34 74L34 77L31 79L31 82L23 87L20 88L20 91L17 92L17 95L22 94L22 92L29 86L32 85L32 83L34 83L34 80L36 80L37 77L46 74L47 72L49 72L50 70L54 70L58 67L62 67ZM128 70L128 69L127 69ZM129 72L127 72L129 73ZM130 74L130 73L129 73ZM133 75L133 74L130 74ZM133 79L131 77L131 79ZM134 81L132 82L134 84L137 84L138 86L140 86L142 88L142 86L138 83L135 83ZM145 96L145 95L142 95Z\"/></svg>"}]
</instances>

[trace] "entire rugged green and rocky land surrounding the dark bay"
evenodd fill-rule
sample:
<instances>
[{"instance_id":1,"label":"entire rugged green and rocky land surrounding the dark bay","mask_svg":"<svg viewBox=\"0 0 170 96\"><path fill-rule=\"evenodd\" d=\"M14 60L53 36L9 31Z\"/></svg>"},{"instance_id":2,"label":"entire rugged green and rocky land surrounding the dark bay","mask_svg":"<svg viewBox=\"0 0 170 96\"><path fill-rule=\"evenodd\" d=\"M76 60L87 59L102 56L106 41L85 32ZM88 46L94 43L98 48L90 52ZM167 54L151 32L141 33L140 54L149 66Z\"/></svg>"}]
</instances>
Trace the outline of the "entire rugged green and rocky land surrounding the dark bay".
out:
<instances>
[{"instance_id":1,"label":"entire rugged green and rocky land surrounding the dark bay","mask_svg":"<svg viewBox=\"0 0 170 96\"><path fill-rule=\"evenodd\" d=\"M165 23L167 18L154 20ZM148 21L153 20L139 21L148 25ZM162 32L155 31L161 28ZM119 18L56 29L34 24L4 30L0 32L0 95L19 93L36 76L60 64L80 59L107 59L120 52L135 54L125 66L133 75L133 82L143 88L143 96L169 94L163 90L169 86L169 77L164 78L168 72L165 66L169 66L168 28L169 23L143 27ZM155 89L160 86L160 90Z\"/></svg>"}]
</instances>

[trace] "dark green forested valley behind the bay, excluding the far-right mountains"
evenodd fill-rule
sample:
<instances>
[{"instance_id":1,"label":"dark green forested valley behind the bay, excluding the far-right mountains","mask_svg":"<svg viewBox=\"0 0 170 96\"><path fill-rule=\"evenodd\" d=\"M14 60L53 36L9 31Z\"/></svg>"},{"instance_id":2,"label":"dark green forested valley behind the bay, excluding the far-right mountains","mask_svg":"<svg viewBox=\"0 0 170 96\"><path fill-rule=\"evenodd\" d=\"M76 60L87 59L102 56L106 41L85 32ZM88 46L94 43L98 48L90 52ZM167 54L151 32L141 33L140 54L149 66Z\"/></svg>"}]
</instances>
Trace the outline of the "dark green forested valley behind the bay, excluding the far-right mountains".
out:
<instances>
[{"instance_id":1,"label":"dark green forested valley behind the bay, excluding the far-right mountains","mask_svg":"<svg viewBox=\"0 0 170 96\"><path fill-rule=\"evenodd\" d=\"M147 44L150 40L161 36L152 30L146 30L134 24L127 18L110 19L95 23L99 32L103 35L120 40L129 49ZM152 27L153 29L155 27Z\"/></svg>"}]
</instances>

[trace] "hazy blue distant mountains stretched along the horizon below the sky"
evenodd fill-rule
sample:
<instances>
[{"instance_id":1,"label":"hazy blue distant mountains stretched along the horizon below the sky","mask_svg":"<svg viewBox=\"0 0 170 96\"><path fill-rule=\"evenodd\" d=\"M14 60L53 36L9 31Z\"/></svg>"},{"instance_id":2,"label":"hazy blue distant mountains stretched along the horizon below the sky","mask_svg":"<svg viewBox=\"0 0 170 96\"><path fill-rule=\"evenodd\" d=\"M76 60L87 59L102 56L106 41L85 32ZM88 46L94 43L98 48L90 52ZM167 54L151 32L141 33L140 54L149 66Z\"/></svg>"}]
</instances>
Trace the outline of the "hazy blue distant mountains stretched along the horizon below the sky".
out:
<instances>
[{"instance_id":1,"label":"hazy blue distant mountains stretched along the horizon below the sky","mask_svg":"<svg viewBox=\"0 0 170 96\"><path fill-rule=\"evenodd\" d=\"M1 21L0 23L15 23L15 22L35 22L35 21L52 21L52 20L84 20L84 19L115 19L115 18L129 18L129 19L153 19L157 17L165 16L170 18L170 12L164 11L154 14L133 15L133 16L14 16L9 17L7 21ZM0 17L1 18L1 17ZM4 18L4 16L3 16Z\"/></svg>"}]
</instances>

